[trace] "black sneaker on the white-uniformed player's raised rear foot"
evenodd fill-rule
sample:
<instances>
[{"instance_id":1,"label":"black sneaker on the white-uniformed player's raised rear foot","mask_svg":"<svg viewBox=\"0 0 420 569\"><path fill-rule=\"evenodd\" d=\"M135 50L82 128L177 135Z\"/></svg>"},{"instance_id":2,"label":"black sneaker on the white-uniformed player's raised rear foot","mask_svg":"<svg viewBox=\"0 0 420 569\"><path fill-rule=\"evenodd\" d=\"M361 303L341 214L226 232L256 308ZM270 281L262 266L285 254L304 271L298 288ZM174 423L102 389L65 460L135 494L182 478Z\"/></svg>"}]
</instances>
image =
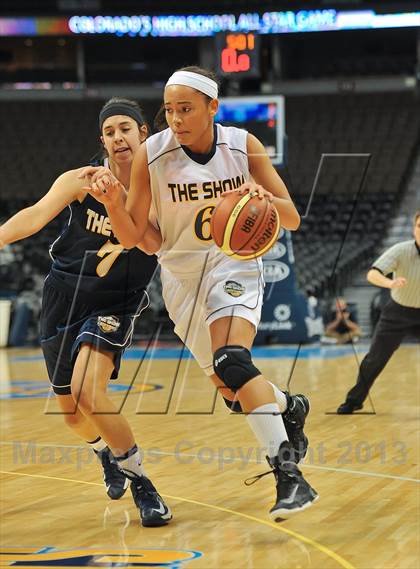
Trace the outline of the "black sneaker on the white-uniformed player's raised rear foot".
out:
<instances>
[{"instance_id":1,"label":"black sneaker on the white-uniformed player's raised rear foot","mask_svg":"<svg viewBox=\"0 0 420 569\"><path fill-rule=\"evenodd\" d=\"M295 462L299 463L305 458L308 450L308 437L303 432L305 420L308 416L310 405L307 397L302 394L289 395L287 397L287 410L282 413L284 427L294 450Z\"/></svg>"}]
</instances>

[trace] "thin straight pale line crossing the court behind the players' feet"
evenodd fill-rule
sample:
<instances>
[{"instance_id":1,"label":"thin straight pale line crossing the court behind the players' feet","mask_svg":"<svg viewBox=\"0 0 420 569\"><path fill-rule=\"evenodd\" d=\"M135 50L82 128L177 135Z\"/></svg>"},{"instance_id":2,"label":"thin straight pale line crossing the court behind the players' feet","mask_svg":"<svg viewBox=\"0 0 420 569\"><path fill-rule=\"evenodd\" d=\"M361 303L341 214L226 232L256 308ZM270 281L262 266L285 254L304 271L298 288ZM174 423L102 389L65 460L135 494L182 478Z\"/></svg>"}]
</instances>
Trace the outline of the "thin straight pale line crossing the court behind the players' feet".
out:
<instances>
[{"instance_id":1,"label":"thin straight pale line crossing the court behind the players' feet","mask_svg":"<svg viewBox=\"0 0 420 569\"><path fill-rule=\"evenodd\" d=\"M0 445L15 445L15 444L30 444L31 441L0 441ZM85 445L65 445L65 444L57 444L57 443L35 443L38 447L63 447L63 448L75 448L75 449L87 449L88 447ZM143 450L147 451L148 449L142 447ZM150 452L151 455L162 455L162 456L189 456L192 458L199 459L199 455L190 452L169 452L169 451L162 451L162 450L153 450ZM220 455L215 455L215 460L217 461L220 458ZM233 458L229 459L231 462L243 462L241 458ZM226 462L225 464L228 465L231 462ZM258 462L255 459L247 460L248 463L252 464L265 464L264 462ZM329 472L344 472L346 474L354 474L355 476L371 476L373 478L388 478L390 480L400 480L402 482L414 482L415 484L420 484L419 478L410 478L409 476L397 476L396 474L382 474L381 472L370 472L369 470L352 470L351 468L334 468L333 466L319 466L317 464L305 464L303 462L299 465L300 468L313 468L315 470L327 470Z\"/></svg>"}]
</instances>

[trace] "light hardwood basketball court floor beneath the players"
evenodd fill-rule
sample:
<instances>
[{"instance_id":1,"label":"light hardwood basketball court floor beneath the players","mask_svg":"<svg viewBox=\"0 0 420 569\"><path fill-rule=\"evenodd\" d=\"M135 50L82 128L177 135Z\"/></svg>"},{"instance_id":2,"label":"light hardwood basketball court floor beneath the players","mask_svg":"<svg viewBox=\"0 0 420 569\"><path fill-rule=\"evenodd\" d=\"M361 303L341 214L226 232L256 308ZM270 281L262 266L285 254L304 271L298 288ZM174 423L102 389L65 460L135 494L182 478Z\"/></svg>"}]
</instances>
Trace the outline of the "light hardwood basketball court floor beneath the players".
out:
<instances>
[{"instance_id":1,"label":"light hardwood basketball court floor beneath the players","mask_svg":"<svg viewBox=\"0 0 420 569\"><path fill-rule=\"evenodd\" d=\"M262 350L258 365L284 387L293 352ZM360 357L360 345L358 352ZM172 523L155 529L139 526L129 493L118 502L105 495L99 466L54 414L39 350L0 354L3 397L14 395L1 401L3 565L420 566L418 346L398 350L373 389L377 414L360 416L325 414L336 409L356 377L351 350L303 350L291 390L311 398L311 448L302 470L320 500L282 524L267 515L273 477L243 485L267 469L265 461L256 463L263 453L244 417L229 415L221 401L210 412L213 390L190 360L182 361L165 413L177 366L165 351L143 362L127 397L124 385L139 358L138 351L130 352L121 390L112 397L124 403L145 449L147 471L173 509ZM148 385L143 391L142 382Z\"/></svg>"}]
</instances>

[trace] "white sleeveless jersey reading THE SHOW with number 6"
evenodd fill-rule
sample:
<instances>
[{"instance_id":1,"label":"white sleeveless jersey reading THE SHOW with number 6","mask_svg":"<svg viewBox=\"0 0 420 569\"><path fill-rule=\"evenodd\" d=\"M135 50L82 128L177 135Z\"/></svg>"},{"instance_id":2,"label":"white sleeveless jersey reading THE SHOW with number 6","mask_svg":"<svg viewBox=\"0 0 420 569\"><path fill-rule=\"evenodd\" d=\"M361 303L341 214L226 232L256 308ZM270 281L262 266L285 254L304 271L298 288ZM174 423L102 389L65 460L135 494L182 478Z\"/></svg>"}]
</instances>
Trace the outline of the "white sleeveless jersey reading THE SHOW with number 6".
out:
<instances>
[{"instance_id":1,"label":"white sleeveless jersey reading THE SHOW with number 6","mask_svg":"<svg viewBox=\"0 0 420 569\"><path fill-rule=\"evenodd\" d=\"M198 275L209 254L219 257L210 235L210 217L222 192L250 180L247 134L215 125L205 164L196 161L200 155L185 151L169 128L146 140L152 204L162 233L158 257L171 273Z\"/></svg>"}]
</instances>

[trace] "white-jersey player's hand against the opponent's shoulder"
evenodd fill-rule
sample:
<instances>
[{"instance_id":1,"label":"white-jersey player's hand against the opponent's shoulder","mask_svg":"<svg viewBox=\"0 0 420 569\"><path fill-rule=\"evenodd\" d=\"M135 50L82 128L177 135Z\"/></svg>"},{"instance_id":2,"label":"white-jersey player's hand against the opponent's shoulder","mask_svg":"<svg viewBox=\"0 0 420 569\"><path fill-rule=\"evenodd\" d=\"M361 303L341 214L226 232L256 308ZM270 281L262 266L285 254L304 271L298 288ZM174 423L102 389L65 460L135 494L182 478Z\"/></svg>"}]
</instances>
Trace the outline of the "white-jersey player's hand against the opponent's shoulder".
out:
<instances>
[{"instance_id":1,"label":"white-jersey player's hand against the opponent's shoulder","mask_svg":"<svg viewBox=\"0 0 420 569\"><path fill-rule=\"evenodd\" d=\"M115 206L123 202L125 188L108 168L104 166L86 166L78 178L86 178L88 184L82 190L88 192L104 206Z\"/></svg>"}]
</instances>

